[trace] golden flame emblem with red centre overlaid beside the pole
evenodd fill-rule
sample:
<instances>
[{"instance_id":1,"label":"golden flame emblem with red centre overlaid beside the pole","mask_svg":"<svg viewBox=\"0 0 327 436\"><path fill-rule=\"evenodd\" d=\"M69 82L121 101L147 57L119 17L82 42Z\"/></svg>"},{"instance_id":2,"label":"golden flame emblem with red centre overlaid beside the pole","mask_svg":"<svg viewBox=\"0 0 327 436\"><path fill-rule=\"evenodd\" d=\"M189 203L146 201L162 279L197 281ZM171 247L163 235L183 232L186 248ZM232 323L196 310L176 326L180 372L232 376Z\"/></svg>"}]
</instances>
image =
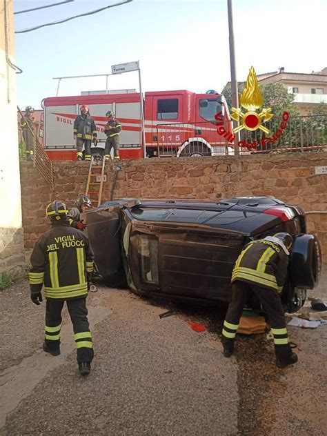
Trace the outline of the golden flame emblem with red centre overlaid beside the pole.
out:
<instances>
[{"instance_id":1,"label":"golden flame emblem with red centre overlaid beside the pole","mask_svg":"<svg viewBox=\"0 0 327 436\"><path fill-rule=\"evenodd\" d=\"M255 68L251 67L248 73L248 79L246 80L246 86L241 94L239 103L247 112L242 112L239 108L232 108L232 113L230 118L235 121L240 121L240 126L235 127L232 131L239 132L239 130L257 130L260 129L266 133L270 134L270 130L262 123L269 121L273 118L271 113L271 108L262 109L261 112L257 113L257 109L261 108L264 104L264 98L262 97L260 86L255 75Z\"/></svg>"}]
</instances>

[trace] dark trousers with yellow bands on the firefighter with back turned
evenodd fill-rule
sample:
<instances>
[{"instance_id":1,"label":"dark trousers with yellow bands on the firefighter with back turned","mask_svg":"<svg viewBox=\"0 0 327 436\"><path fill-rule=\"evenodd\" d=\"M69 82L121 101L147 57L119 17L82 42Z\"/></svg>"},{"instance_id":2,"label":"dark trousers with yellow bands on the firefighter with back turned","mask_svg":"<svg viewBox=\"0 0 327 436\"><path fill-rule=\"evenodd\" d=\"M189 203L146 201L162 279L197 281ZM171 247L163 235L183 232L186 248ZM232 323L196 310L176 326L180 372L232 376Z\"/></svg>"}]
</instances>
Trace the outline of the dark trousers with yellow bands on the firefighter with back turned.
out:
<instances>
[{"instance_id":1,"label":"dark trousers with yellow bands on the firefighter with back turned","mask_svg":"<svg viewBox=\"0 0 327 436\"><path fill-rule=\"evenodd\" d=\"M46 300L46 346L49 350L59 350L61 330L61 310L64 300ZM66 300L74 339L77 347L77 362L90 362L93 359L92 335L88 324L86 298Z\"/></svg>"}]
</instances>

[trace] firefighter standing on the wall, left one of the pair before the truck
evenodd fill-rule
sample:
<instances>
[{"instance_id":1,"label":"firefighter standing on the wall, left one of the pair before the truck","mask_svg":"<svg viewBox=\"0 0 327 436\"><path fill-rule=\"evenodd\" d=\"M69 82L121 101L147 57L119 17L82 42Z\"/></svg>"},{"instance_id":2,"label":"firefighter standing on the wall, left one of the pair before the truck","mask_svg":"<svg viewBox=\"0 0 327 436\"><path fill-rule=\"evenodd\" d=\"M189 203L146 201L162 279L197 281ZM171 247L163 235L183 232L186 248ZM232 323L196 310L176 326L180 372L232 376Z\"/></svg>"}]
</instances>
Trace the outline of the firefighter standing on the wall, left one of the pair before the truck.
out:
<instances>
[{"instance_id":1,"label":"firefighter standing on the wall, left one of the pair before the truck","mask_svg":"<svg viewBox=\"0 0 327 436\"><path fill-rule=\"evenodd\" d=\"M93 135L93 143L97 143L97 127L95 120L90 116L88 106L81 106L81 115L74 121L74 139L77 148L77 160L83 159L83 146L85 148L85 160L91 160L91 139Z\"/></svg>"}]
</instances>

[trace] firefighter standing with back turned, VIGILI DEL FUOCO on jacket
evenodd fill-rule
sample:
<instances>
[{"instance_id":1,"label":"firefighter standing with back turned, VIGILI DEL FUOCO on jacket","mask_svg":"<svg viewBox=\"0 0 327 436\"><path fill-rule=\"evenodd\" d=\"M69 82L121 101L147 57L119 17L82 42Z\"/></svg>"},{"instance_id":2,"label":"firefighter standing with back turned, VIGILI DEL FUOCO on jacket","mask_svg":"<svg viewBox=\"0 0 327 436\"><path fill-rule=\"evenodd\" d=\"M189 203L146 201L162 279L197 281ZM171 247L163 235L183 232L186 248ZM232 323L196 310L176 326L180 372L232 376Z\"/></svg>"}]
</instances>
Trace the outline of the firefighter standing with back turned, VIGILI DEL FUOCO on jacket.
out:
<instances>
[{"instance_id":1,"label":"firefighter standing with back turned, VIGILI DEL FUOCO on jacket","mask_svg":"<svg viewBox=\"0 0 327 436\"><path fill-rule=\"evenodd\" d=\"M66 301L77 347L79 373L90 373L93 359L92 335L88 324L86 297L93 270L93 252L88 237L67 220L63 201L53 201L46 208L51 220L48 230L34 246L30 257L30 291L34 304L46 297L46 337L43 350L52 356L60 354L61 310Z\"/></svg>"}]
</instances>

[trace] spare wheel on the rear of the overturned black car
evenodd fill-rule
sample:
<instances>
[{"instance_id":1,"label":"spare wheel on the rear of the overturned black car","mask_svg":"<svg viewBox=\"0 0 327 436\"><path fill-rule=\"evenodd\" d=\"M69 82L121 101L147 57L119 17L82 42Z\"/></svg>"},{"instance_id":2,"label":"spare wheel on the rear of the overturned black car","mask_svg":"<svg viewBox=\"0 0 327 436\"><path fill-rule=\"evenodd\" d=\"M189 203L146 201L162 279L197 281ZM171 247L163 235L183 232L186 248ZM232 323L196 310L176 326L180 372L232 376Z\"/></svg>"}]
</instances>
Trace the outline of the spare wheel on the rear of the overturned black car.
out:
<instances>
[{"instance_id":1,"label":"spare wheel on the rear of the overturned black car","mask_svg":"<svg viewBox=\"0 0 327 436\"><path fill-rule=\"evenodd\" d=\"M321 273L321 248L315 235L295 237L290 255L290 280L295 288L313 289Z\"/></svg>"}]
</instances>

